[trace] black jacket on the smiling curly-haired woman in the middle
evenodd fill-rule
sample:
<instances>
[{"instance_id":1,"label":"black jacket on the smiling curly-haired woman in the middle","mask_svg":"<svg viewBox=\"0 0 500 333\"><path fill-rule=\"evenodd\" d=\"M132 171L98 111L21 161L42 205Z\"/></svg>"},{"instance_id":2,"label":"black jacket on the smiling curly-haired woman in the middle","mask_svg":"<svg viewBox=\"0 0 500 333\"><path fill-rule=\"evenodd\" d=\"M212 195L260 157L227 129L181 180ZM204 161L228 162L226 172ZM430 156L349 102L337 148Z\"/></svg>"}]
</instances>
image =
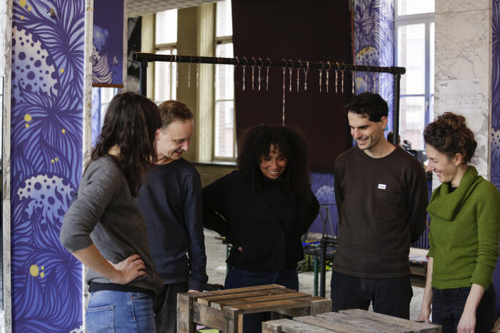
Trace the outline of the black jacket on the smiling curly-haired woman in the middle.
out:
<instances>
[{"instance_id":1,"label":"black jacket on the smiling curly-haired woman in the middle","mask_svg":"<svg viewBox=\"0 0 500 333\"><path fill-rule=\"evenodd\" d=\"M206 186L203 203L204 227L226 236L233 245L226 262L252 272L295 268L304 258L301 235L319 212L311 190L298 198L279 180L266 180L254 189L239 170Z\"/></svg>"}]
</instances>

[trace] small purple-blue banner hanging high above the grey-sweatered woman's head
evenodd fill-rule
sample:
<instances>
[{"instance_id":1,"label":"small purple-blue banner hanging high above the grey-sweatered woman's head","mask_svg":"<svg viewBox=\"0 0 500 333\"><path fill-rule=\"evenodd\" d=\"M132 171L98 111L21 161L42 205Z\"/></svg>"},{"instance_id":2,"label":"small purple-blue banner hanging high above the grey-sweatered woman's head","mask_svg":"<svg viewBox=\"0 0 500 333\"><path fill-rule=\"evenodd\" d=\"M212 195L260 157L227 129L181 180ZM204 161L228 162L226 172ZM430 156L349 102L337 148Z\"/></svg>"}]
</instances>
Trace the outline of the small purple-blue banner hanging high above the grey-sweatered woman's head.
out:
<instances>
[{"instance_id":1,"label":"small purple-blue banner hanging high above the grey-sweatered woman's head","mask_svg":"<svg viewBox=\"0 0 500 333\"><path fill-rule=\"evenodd\" d=\"M93 34L93 86L123 88L124 0L94 1Z\"/></svg>"}]
</instances>

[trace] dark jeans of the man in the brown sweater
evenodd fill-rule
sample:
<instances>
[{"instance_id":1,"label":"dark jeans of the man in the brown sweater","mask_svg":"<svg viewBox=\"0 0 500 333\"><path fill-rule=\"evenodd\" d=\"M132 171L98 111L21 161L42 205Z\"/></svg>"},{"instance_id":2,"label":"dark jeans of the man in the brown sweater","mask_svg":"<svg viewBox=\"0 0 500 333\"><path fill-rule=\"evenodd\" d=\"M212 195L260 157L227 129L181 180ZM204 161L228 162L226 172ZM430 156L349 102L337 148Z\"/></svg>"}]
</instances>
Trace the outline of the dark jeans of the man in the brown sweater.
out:
<instances>
[{"instance_id":1,"label":"dark jeans of the man in the brown sweater","mask_svg":"<svg viewBox=\"0 0 500 333\"><path fill-rule=\"evenodd\" d=\"M365 309L372 302L374 312L410 319L413 297L410 277L364 279L332 272L331 300L334 312L342 309Z\"/></svg>"}]
</instances>

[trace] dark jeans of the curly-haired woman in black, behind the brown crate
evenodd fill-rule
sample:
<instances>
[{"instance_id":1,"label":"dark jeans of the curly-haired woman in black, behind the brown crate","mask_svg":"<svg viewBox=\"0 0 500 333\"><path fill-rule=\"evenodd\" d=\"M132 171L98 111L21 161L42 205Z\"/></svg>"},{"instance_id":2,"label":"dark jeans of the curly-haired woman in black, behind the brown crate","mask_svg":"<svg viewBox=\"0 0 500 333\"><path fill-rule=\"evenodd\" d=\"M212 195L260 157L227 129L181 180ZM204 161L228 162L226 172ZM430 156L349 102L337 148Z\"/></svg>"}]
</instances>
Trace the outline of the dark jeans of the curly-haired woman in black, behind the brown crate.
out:
<instances>
[{"instance_id":1,"label":"dark jeans of the curly-haired woman in black, behind the brown crate","mask_svg":"<svg viewBox=\"0 0 500 333\"><path fill-rule=\"evenodd\" d=\"M283 272L249 272L229 266L224 288L253 287L258 285L271 285L273 283L289 289L299 290L299 275L297 275L297 270L286 270ZM244 314L243 332L261 332L262 322L269 319L271 319L269 312Z\"/></svg>"}]
</instances>

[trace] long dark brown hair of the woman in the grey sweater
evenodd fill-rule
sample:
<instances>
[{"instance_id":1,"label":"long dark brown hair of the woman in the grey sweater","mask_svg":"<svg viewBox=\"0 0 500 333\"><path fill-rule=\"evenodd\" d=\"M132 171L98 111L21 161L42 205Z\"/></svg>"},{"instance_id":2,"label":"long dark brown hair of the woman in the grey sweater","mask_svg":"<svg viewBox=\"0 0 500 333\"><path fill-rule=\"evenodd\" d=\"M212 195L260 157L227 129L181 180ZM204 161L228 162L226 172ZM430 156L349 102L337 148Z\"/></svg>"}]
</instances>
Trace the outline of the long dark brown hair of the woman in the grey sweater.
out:
<instances>
[{"instance_id":1,"label":"long dark brown hair of the woman in the grey sweater","mask_svg":"<svg viewBox=\"0 0 500 333\"><path fill-rule=\"evenodd\" d=\"M123 171L132 196L136 197L146 171L156 162L158 128L161 128L161 117L155 103L136 93L120 93L109 103L91 160L109 155L111 147L118 145L120 155L114 160Z\"/></svg>"}]
</instances>

